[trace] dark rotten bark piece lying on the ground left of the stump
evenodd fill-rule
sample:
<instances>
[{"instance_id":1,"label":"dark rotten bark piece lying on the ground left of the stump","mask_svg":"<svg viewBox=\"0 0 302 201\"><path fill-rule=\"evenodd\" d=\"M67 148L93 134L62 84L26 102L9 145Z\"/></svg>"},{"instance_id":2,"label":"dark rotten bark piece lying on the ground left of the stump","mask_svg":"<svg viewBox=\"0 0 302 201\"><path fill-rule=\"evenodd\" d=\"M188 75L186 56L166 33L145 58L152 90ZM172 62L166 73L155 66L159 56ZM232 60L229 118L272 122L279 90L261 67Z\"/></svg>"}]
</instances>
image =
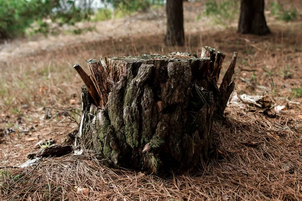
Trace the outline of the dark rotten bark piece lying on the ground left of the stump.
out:
<instances>
[{"instance_id":1,"label":"dark rotten bark piece lying on the ground left of the stump","mask_svg":"<svg viewBox=\"0 0 302 201\"><path fill-rule=\"evenodd\" d=\"M71 146L70 145L57 145L53 144L49 147L46 147L44 149L39 150L36 153L29 154L27 158L34 159L34 158L47 158L47 157L58 157L63 156L71 152Z\"/></svg>"}]
</instances>

